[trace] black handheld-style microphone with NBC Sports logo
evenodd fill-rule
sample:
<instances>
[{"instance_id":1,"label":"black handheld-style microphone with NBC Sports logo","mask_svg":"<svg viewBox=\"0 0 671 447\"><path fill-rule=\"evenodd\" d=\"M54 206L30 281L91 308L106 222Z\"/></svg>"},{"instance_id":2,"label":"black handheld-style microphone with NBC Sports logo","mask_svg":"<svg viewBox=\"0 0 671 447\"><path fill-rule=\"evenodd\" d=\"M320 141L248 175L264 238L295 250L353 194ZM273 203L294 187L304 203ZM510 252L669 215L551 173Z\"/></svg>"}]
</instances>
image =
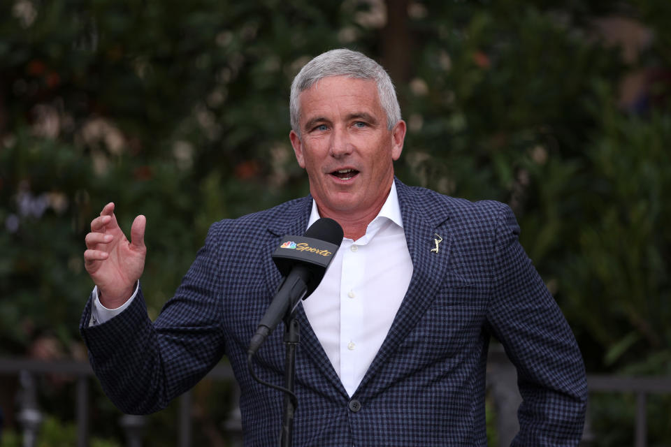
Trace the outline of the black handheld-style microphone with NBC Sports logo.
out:
<instances>
[{"instance_id":1,"label":"black handheld-style microphone with NBC Sports logo","mask_svg":"<svg viewBox=\"0 0 671 447\"><path fill-rule=\"evenodd\" d=\"M294 312L301 299L305 300L315 291L341 243L342 228L327 217L312 223L303 236L282 238L273 261L285 278L250 341L249 356L256 353L289 309Z\"/></svg>"}]
</instances>

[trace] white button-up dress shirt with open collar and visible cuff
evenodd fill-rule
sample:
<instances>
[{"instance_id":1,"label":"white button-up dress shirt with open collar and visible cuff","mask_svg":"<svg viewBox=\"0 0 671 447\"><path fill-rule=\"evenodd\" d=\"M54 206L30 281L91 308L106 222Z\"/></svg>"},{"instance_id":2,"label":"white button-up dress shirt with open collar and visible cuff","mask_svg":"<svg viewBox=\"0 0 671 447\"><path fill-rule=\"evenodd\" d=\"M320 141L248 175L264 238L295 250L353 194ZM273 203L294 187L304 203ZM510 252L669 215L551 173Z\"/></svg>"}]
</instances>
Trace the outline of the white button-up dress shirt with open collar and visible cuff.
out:
<instances>
[{"instance_id":1,"label":"white button-up dress shirt with open collar and visible cuff","mask_svg":"<svg viewBox=\"0 0 671 447\"><path fill-rule=\"evenodd\" d=\"M313 200L308 227L317 219ZM349 396L354 395L387 337L411 276L401 205L392 184L366 234L356 241L342 239L319 287L302 302L310 326ZM108 309L101 304L96 286L90 324L101 324L120 314L137 293L138 285L124 305Z\"/></svg>"}]
</instances>

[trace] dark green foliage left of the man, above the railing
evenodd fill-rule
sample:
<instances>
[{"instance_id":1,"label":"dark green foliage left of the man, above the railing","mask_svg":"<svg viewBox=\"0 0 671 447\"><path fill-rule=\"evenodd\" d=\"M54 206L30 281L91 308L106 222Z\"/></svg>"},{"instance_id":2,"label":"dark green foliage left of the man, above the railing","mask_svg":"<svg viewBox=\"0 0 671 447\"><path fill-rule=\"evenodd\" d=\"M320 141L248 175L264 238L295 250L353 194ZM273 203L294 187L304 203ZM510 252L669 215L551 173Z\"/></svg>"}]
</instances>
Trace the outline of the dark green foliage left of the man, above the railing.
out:
<instances>
[{"instance_id":1,"label":"dark green foliage left of the man, above the railing","mask_svg":"<svg viewBox=\"0 0 671 447\"><path fill-rule=\"evenodd\" d=\"M1 351L43 335L78 342L92 288L83 238L108 201L123 228L147 216L156 316L213 221L307 191L287 138L289 85L359 7L276 6L0 6Z\"/></svg>"}]
</instances>

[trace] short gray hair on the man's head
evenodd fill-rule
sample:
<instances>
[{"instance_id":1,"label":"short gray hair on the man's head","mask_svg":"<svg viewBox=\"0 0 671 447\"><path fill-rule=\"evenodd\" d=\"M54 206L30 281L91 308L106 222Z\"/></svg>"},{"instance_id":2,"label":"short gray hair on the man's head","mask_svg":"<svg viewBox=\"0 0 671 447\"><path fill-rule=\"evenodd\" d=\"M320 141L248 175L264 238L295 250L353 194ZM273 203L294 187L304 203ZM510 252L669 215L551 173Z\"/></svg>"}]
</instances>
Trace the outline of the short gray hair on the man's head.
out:
<instances>
[{"instance_id":1,"label":"short gray hair on the man's head","mask_svg":"<svg viewBox=\"0 0 671 447\"><path fill-rule=\"evenodd\" d=\"M373 59L358 51L340 48L319 54L298 72L294 82L291 82L291 96L289 96L289 114L291 115L291 129L301 135L298 122L301 118L301 93L316 82L329 76L347 76L347 78L374 80L377 85L377 95L380 104L387 113L387 128L391 131L394 125L401 120L401 107L396 99L396 91L391 78L384 68Z\"/></svg>"}]
</instances>

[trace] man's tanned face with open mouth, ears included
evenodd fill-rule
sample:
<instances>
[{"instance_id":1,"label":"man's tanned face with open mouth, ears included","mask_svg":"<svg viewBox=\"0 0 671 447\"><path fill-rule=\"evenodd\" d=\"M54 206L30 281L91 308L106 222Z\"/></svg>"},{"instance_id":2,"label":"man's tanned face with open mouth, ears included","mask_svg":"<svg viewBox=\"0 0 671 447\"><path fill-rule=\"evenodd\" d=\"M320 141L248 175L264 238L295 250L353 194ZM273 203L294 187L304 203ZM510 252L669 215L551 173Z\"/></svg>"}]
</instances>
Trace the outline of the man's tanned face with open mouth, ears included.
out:
<instances>
[{"instance_id":1,"label":"man's tanned face with open mouth, ears included","mask_svg":"<svg viewBox=\"0 0 671 447\"><path fill-rule=\"evenodd\" d=\"M405 122L387 129L373 80L324 78L301 93L300 104L301 137L291 131L289 138L320 214L375 217L394 181Z\"/></svg>"}]
</instances>

